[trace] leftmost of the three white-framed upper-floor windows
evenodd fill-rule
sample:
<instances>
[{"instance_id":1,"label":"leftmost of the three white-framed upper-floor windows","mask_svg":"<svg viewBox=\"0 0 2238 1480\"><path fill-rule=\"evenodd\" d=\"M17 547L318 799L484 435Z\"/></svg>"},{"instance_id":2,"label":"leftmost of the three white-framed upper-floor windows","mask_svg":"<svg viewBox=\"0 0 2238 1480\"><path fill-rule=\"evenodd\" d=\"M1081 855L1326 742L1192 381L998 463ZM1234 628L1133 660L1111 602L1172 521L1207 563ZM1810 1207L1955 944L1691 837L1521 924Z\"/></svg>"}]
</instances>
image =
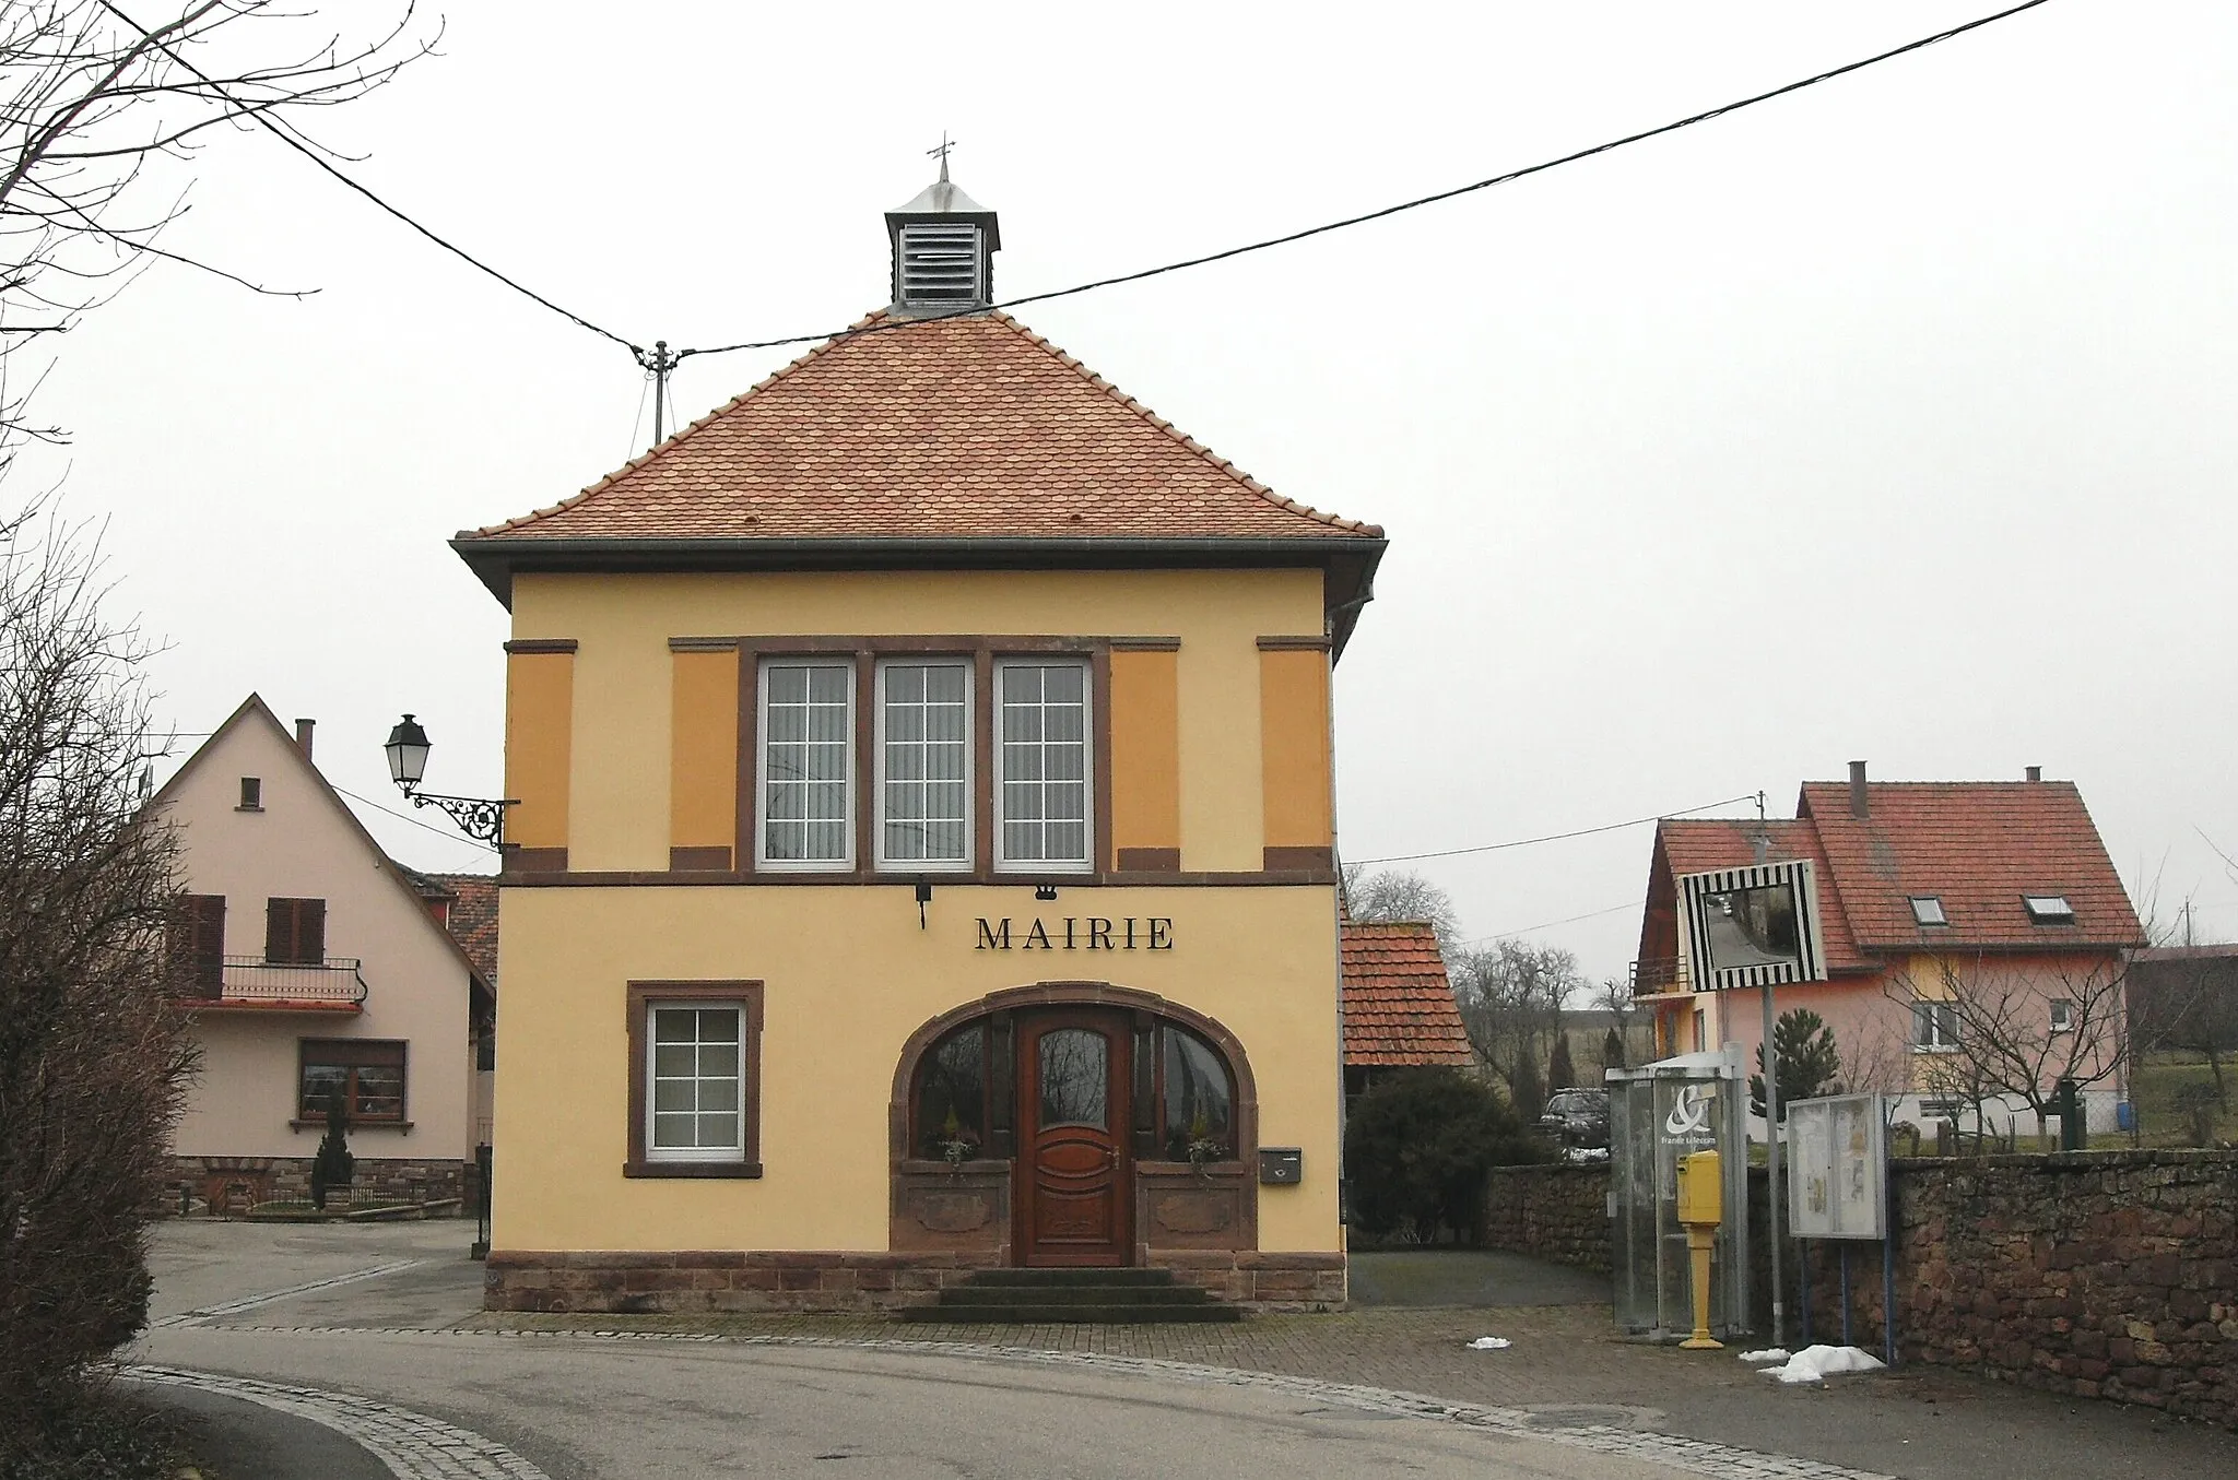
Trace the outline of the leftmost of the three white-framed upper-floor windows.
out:
<instances>
[{"instance_id":1,"label":"leftmost of the three white-framed upper-floor windows","mask_svg":"<svg viewBox=\"0 0 2238 1480\"><path fill-rule=\"evenodd\" d=\"M759 865L833 870L855 863L855 666L761 664Z\"/></svg>"}]
</instances>

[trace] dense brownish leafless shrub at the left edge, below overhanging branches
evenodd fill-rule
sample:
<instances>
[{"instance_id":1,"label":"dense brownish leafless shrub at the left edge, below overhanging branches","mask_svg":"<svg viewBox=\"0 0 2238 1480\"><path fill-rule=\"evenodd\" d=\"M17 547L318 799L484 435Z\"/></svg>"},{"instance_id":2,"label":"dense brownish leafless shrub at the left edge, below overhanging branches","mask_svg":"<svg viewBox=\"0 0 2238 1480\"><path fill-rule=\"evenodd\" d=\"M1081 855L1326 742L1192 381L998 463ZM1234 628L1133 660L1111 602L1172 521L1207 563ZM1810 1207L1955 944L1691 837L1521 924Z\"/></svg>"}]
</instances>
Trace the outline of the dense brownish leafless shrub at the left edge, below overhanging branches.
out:
<instances>
[{"instance_id":1,"label":"dense brownish leafless shrub at the left edge, below overhanging branches","mask_svg":"<svg viewBox=\"0 0 2238 1480\"><path fill-rule=\"evenodd\" d=\"M190 1073L166 981L172 843L137 818L145 644L101 615L98 568L83 530L36 514L0 530L0 1411L11 1415L47 1411L145 1321L141 1234Z\"/></svg>"}]
</instances>

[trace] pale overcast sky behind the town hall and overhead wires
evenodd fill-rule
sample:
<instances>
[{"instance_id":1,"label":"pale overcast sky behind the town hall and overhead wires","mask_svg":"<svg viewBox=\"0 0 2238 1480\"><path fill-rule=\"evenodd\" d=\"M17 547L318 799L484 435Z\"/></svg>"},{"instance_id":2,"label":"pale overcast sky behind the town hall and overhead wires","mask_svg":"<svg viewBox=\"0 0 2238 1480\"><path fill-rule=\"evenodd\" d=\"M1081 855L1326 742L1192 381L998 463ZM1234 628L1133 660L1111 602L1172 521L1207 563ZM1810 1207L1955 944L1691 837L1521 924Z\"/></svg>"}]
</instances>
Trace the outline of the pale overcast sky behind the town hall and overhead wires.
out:
<instances>
[{"instance_id":1,"label":"pale overcast sky behind the town hall and overhead wires","mask_svg":"<svg viewBox=\"0 0 2238 1480\"><path fill-rule=\"evenodd\" d=\"M1996 9L636 7L474 0L313 130L624 338L886 297L933 172L1056 288L1482 179ZM329 4L367 29L389 4ZM1303 246L1023 311L1278 492L1392 548L1338 668L1352 858L1596 827L1862 758L2072 778L2140 910L2238 935L2238 7L2054 0L1802 96ZM260 136L40 409L107 521L161 713L251 691L394 805L497 794L506 613L445 539L642 452L598 340ZM797 351L698 358L689 418ZM63 461L47 467L58 469ZM27 469L22 476L40 472ZM188 742L192 744L192 742ZM1752 814L1752 807L1725 807ZM405 863L490 854L365 812ZM1649 827L1419 865L1470 937L1618 975ZM2057 881L2048 881L2057 883ZM1573 919L1580 917L1580 919ZM1562 923L1553 923L1562 921Z\"/></svg>"}]
</instances>

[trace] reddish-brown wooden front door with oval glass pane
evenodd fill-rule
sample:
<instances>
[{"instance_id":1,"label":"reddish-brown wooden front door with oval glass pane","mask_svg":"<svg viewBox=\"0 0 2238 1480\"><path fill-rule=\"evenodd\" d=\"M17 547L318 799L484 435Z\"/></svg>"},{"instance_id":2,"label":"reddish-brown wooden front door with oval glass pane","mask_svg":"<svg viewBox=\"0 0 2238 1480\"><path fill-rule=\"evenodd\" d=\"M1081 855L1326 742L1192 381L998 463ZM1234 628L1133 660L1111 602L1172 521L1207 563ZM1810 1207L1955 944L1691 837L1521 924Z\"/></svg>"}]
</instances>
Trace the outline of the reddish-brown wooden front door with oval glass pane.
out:
<instances>
[{"instance_id":1,"label":"reddish-brown wooden front door with oval glass pane","mask_svg":"<svg viewBox=\"0 0 2238 1480\"><path fill-rule=\"evenodd\" d=\"M1021 1019L1018 1263L1130 1261L1132 1046L1132 1026L1119 1013L1052 1011Z\"/></svg>"}]
</instances>

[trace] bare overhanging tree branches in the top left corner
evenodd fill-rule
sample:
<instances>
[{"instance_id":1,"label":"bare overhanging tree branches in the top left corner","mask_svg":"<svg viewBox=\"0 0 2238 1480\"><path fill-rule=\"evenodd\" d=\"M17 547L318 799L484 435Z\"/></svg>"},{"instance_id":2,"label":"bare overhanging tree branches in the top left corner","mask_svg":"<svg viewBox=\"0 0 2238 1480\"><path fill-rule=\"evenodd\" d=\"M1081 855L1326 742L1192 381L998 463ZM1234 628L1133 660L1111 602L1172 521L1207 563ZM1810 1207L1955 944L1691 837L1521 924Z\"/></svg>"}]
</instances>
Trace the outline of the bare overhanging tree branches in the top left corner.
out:
<instances>
[{"instance_id":1,"label":"bare overhanging tree branches in the top left corner","mask_svg":"<svg viewBox=\"0 0 2238 1480\"><path fill-rule=\"evenodd\" d=\"M410 0L365 42L307 4L143 2L141 18L128 0L0 4L0 358L65 333L157 259L266 291L159 241L186 215L179 165L222 127L325 154L293 114L363 98L434 45L410 38ZM0 376L4 449L58 436L27 418L27 378Z\"/></svg>"}]
</instances>

